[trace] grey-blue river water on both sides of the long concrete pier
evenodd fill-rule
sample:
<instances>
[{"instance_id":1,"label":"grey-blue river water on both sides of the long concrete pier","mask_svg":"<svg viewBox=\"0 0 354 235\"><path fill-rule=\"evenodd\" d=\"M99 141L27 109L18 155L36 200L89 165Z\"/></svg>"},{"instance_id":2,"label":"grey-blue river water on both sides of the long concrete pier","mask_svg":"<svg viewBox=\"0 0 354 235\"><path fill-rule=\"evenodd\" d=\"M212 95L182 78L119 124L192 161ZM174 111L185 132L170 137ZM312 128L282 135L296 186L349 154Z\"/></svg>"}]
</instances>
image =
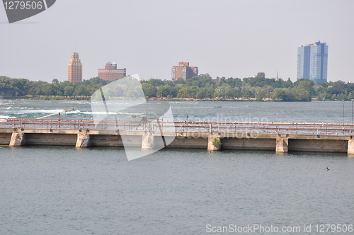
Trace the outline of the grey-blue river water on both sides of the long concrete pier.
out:
<instances>
[{"instance_id":1,"label":"grey-blue river water on both sides of the long concrete pier","mask_svg":"<svg viewBox=\"0 0 354 235\"><path fill-rule=\"evenodd\" d=\"M171 106L176 120L351 122L350 102L344 116L341 102ZM86 101L0 101L0 118L69 108L66 118L92 118ZM0 234L208 234L230 224L265 231L229 234L309 225L316 234L354 224L353 178L347 154L161 149L127 161L122 148L3 146Z\"/></svg>"}]
</instances>

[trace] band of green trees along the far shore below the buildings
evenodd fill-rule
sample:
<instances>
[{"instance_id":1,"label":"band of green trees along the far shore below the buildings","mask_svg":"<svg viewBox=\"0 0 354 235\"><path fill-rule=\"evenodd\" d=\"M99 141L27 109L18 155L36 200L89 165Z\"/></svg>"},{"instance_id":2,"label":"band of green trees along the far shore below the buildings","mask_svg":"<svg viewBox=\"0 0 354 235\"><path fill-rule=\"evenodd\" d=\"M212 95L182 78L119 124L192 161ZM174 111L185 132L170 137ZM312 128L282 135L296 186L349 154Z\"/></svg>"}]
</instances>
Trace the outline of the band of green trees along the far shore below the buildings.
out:
<instances>
[{"instance_id":1,"label":"band of green trees along the far shore below the buildings","mask_svg":"<svg viewBox=\"0 0 354 235\"><path fill-rule=\"evenodd\" d=\"M98 77L82 82L28 81L27 79L11 79L0 76L0 96L3 97L42 97L47 98L89 98L97 89L109 84ZM299 80L294 83L287 79L267 79L263 72L256 76L239 78L212 79L209 74L200 74L191 79L176 81L150 79L141 81L145 96L149 98L198 98L234 100L246 99L263 101L342 101L354 98L354 84L344 81L329 81L315 84L310 80Z\"/></svg>"}]
</instances>

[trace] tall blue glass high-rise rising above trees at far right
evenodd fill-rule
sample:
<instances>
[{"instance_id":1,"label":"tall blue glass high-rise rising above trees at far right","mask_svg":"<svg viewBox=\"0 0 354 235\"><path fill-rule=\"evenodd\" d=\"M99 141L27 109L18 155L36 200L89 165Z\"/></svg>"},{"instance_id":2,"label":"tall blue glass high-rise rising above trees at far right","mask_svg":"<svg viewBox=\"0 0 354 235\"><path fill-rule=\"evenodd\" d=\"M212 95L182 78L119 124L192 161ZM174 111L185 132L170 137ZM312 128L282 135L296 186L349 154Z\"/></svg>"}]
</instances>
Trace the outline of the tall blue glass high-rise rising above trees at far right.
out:
<instances>
[{"instance_id":1,"label":"tall blue glass high-rise rising above trees at far right","mask_svg":"<svg viewBox=\"0 0 354 235\"><path fill-rule=\"evenodd\" d=\"M310 79L318 83L327 81L329 46L315 42L297 48L297 80Z\"/></svg>"}]
</instances>

